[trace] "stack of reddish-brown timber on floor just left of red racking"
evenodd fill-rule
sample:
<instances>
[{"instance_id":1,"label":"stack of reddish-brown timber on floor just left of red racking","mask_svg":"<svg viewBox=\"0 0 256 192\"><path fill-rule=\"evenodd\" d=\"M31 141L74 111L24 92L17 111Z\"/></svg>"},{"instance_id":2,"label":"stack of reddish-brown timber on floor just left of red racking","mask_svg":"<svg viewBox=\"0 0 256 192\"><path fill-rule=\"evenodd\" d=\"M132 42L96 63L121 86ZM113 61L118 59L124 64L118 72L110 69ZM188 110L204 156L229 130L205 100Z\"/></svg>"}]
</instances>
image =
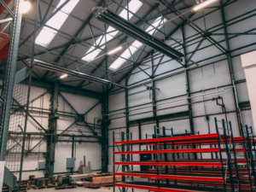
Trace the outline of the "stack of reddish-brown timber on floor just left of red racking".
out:
<instances>
[{"instance_id":1,"label":"stack of reddish-brown timber on floor just left of red racking","mask_svg":"<svg viewBox=\"0 0 256 192\"><path fill-rule=\"evenodd\" d=\"M117 182L122 181L121 176L115 177ZM87 177L84 181L85 188L100 188L100 187L108 187L113 186L113 174L102 173L95 174Z\"/></svg>"}]
</instances>

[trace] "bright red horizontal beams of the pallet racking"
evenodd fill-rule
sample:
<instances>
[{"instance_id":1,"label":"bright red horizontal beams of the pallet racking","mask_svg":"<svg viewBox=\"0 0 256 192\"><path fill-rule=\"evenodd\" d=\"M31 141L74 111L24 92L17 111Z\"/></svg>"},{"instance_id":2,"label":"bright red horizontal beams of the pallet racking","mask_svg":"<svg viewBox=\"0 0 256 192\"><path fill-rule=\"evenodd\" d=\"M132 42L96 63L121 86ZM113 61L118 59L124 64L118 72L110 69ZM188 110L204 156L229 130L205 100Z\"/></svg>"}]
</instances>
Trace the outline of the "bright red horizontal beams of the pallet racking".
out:
<instances>
[{"instance_id":1,"label":"bright red horizontal beams of the pallet racking","mask_svg":"<svg viewBox=\"0 0 256 192\"><path fill-rule=\"evenodd\" d=\"M121 142L113 142L114 145L121 145L124 146L125 144L154 144L155 146L159 144L164 144L164 143L169 143L175 146L178 145L186 145L189 146L191 144L196 144L198 145L199 143L216 143L218 144L218 137L221 139L224 139L223 135L218 135L217 133L213 134L205 134L205 135L189 135L189 136L183 136L183 137L160 137L160 138L152 138L152 139L143 139L143 140L130 140L130 141L121 141ZM236 143L241 143L241 137L236 137ZM156 148L156 147L155 147ZM245 148L236 148L236 152L245 152ZM119 152L114 152L113 155L115 154L177 154L177 153L184 153L184 154L189 154L189 153L222 153L225 152L224 149L222 148L184 148L184 149L159 149L157 148L155 150L146 150L146 151L119 151ZM161 172L159 174L159 171L157 174L152 173L137 173L137 172L113 172L114 176L122 176L122 177L148 177L148 179L155 179L156 181L160 180L174 180L177 182L177 180L182 180L182 181L194 181L194 182L205 182L205 183L219 183L218 186L223 186L224 182L224 175L221 172L214 172L211 175L207 174L206 177L202 176L197 176L199 174L204 174L206 172L186 172L185 169L186 167L208 167L207 169L212 169L214 170L217 168L220 170L220 167L223 167L223 162L218 160L189 160L189 161L184 161L184 160L168 160L168 161L163 161L163 160L150 160L147 162L141 162L141 161L120 161L120 162L113 162L113 166L174 166L177 169L177 172L175 171L167 171L168 174L166 174L166 170ZM241 163L247 163L244 162L244 160L241 160ZM188 169L187 168L187 169ZM185 172L184 172L185 171ZM156 172L156 170L154 171ZM174 174L173 174L174 173ZM193 174L192 175L181 175L181 174L175 174L175 173L187 173L187 174ZM216 173L216 174L215 174ZM215 176L215 177L214 177ZM229 175L228 175L229 177ZM184 192L190 192L190 191L195 191L194 189L189 190L189 189L172 189L171 188L160 188L159 185L158 187L155 186L143 186L140 184L136 183L113 183L114 187L121 187L121 188L133 188L133 189L147 189L149 191L184 191ZM217 186L217 185L216 185Z\"/></svg>"}]
</instances>

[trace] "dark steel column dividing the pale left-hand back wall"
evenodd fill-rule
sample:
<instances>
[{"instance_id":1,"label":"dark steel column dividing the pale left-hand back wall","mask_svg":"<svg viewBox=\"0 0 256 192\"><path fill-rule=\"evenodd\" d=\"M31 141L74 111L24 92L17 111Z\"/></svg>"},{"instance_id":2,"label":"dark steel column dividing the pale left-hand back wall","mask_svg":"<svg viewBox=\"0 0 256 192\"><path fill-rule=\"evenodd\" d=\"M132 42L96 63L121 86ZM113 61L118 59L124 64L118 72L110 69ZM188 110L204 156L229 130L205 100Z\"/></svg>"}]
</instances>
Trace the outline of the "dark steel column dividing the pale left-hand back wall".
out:
<instances>
[{"instance_id":1,"label":"dark steel column dividing the pale left-hand back wall","mask_svg":"<svg viewBox=\"0 0 256 192\"><path fill-rule=\"evenodd\" d=\"M53 94L51 96L50 113L49 113L49 134L47 137L47 157L45 162L45 177L53 176L55 164L55 143L57 119L59 119L58 111L59 84L54 84Z\"/></svg>"}]
</instances>

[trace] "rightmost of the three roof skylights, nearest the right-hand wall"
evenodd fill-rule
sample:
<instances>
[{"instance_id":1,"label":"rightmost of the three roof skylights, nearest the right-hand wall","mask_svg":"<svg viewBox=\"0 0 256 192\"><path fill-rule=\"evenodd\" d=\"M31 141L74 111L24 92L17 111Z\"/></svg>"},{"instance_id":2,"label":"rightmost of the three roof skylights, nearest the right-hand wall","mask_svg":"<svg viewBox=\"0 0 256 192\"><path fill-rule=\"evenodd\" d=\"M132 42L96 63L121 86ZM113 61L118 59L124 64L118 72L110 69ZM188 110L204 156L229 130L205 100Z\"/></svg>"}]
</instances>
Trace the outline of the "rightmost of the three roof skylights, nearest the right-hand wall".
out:
<instances>
[{"instance_id":1,"label":"rightmost of the three roof skylights, nearest the right-hand wall","mask_svg":"<svg viewBox=\"0 0 256 192\"><path fill-rule=\"evenodd\" d=\"M148 26L146 32L148 32L150 35L153 35L154 32L157 29L160 29L161 26L159 26L161 23L166 22L166 19L162 20L162 17L157 18L156 20L154 20L154 23L152 24L152 26ZM154 27L155 28L154 28ZM137 51L137 49L139 49L141 46L143 46L142 43L140 43L139 41L135 41L133 42L133 44L131 44L129 46L129 49L127 48L125 50L124 53L122 53L121 57L125 58L125 59L129 59L131 57L131 55L135 54L135 52ZM131 53L130 53L131 52ZM125 59L123 58L118 58L116 61L114 61L111 66L109 67L109 69L115 71L117 70L119 67L121 67L124 63L125 63Z\"/></svg>"}]
</instances>

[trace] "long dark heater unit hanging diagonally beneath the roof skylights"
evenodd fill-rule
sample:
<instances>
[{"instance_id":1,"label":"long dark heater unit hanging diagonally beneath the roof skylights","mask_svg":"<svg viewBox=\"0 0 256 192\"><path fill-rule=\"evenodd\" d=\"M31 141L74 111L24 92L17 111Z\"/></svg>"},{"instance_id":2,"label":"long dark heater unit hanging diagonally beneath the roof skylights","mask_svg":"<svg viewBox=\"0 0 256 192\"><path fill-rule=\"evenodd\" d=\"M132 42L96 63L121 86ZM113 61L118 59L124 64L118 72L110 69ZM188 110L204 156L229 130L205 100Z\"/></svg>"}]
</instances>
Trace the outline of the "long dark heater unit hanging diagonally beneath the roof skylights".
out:
<instances>
[{"instance_id":1,"label":"long dark heater unit hanging diagonally beneath the roof skylights","mask_svg":"<svg viewBox=\"0 0 256 192\"><path fill-rule=\"evenodd\" d=\"M108 9L103 9L101 7L95 7L92 9L92 13L96 15L96 19L101 20L102 22L113 26L115 29L120 32L124 32L131 38L137 39L143 44L147 44L153 49L159 51L160 53L174 59L180 59L184 55L178 52L176 49L173 49L171 46L163 43L157 38L154 38L148 32L144 32L139 27L131 24L129 21L123 19L119 15L114 14Z\"/></svg>"}]
</instances>

